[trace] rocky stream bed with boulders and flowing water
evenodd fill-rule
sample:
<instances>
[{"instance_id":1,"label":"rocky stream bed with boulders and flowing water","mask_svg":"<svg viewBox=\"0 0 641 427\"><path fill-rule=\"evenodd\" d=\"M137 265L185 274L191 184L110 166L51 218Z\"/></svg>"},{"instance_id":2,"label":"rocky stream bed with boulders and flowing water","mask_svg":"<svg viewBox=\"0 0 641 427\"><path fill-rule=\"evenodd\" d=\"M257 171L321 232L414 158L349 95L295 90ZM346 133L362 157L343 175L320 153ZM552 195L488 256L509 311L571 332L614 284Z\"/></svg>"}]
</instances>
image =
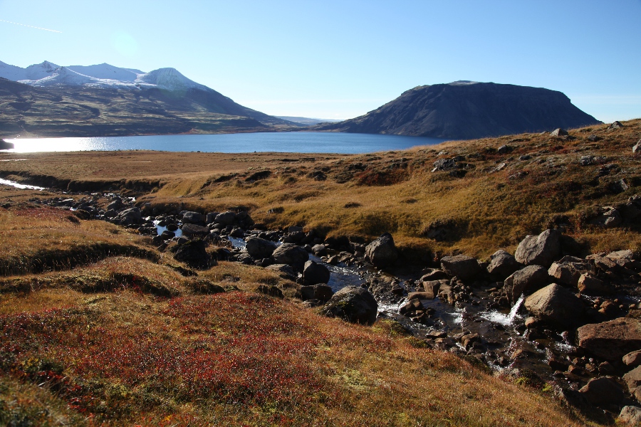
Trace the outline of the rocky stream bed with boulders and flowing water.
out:
<instances>
[{"instance_id":1,"label":"rocky stream bed with boulders and flowing water","mask_svg":"<svg viewBox=\"0 0 641 427\"><path fill-rule=\"evenodd\" d=\"M231 260L276 270L323 315L395 320L424 347L583 411L641 421L641 260L632 251L578 258L575 242L550 229L523 238L514 254L445 256L426 267L404 263L388 233L365 245L298 226L268 230L246 211L161 212L118 194L33 201L133 228L194 269ZM273 285L259 291L283 295Z\"/></svg>"}]
</instances>

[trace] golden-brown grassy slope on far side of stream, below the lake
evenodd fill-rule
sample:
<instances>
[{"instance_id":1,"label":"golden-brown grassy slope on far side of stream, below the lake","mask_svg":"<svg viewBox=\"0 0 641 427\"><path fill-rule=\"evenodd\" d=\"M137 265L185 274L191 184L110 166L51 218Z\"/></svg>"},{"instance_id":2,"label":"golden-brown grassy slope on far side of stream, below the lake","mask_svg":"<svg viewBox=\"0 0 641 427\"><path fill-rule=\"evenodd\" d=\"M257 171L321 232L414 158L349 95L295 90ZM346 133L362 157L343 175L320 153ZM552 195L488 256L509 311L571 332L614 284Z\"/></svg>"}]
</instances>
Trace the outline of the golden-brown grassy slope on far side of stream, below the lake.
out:
<instances>
[{"instance_id":1,"label":"golden-brown grassy slope on far side of stream, below the lake","mask_svg":"<svg viewBox=\"0 0 641 427\"><path fill-rule=\"evenodd\" d=\"M635 226L604 232L584 221L586 212L626 201L641 184L639 159L631 150L641 137L641 120L624 122L624 126L573 130L571 140L526 134L353 156L4 154L6 159L26 160L0 162L0 174L21 175L18 179L31 176L36 181L53 176L78 188L86 186L91 176L94 187L122 185L126 191L137 187L139 201L150 201L160 211L224 211L242 206L256 221L273 227L302 225L365 241L391 232L401 247L437 254L460 251L486 257L497 248L512 250L523 236L540 232L559 215L570 219L568 234L586 243L585 251L637 249L641 241ZM587 137L592 134L600 141L590 142ZM514 151L498 154L496 149L503 144ZM447 154L439 155L442 151ZM578 161L586 154L604 159L601 164L580 166ZM464 177L431 172L435 160L456 155L472 165ZM521 155L532 158L518 160ZM501 163L506 167L492 173ZM597 179L604 164L617 167ZM270 171L271 176L251 180L259 171ZM311 176L315 171L324 171L327 179L316 181ZM623 178L629 189L621 194L609 190L613 181ZM270 214L274 208L283 211ZM443 226L447 229L443 241L427 237L430 228Z\"/></svg>"}]
</instances>

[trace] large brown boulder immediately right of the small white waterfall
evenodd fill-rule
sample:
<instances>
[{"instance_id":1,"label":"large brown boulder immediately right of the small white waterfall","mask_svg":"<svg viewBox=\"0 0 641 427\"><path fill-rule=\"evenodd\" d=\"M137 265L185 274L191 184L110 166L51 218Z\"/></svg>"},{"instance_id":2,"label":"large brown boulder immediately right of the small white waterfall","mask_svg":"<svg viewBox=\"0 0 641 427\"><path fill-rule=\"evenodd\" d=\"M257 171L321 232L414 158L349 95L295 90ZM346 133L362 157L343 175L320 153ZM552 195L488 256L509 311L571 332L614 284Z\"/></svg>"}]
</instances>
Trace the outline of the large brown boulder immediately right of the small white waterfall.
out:
<instances>
[{"instance_id":1,"label":"large brown boulder immediately right of the small white waterfall","mask_svg":"<svg viewBox=\"0 0 641 427\"><path fill-rule=\"evenodd\" d=\"M527 297L525 307L538 320L561 330L577 325L584 312L581 299L556 283Z\"/></svg>"}]
</instances>

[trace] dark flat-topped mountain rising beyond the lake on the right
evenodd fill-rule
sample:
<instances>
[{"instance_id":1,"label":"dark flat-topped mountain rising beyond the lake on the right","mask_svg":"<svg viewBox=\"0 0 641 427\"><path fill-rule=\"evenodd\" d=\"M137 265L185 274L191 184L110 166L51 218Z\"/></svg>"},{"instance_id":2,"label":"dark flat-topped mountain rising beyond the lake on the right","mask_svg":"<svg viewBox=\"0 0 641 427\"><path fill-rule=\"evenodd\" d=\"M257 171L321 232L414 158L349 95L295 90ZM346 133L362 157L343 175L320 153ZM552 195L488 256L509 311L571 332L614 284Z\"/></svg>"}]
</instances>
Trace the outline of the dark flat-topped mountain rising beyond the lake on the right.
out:
<instances>
[{"instance_id":1,"label":"dark flat-topped mountain rising beyond the lake on the right","mask_svg":"<svg viewBox=\"0 0 641 427\"><path fill-rule=\"evenodd\" d=\"M366 115L317 129L474 139L598 123L556 90L449 83L407 90Z\"/></svg>"}]
</instances>

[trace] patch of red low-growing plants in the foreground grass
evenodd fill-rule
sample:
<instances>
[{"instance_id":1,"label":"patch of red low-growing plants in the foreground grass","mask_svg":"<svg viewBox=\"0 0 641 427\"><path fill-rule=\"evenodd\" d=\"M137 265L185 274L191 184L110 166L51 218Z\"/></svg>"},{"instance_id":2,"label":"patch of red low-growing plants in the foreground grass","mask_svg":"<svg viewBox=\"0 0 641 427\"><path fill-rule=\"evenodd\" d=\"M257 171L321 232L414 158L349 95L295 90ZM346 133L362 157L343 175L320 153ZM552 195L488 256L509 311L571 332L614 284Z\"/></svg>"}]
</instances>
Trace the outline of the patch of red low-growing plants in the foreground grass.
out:
<instances>
[{"instance_id":1,"label":"patch of red low-growing plants in the foreground grass","mask_svg":"<svg viewBox=\"0 0 641 427\"><path fill-rule=\"evenodd\" d=\"M113 325L90 310L4 316L1 368L50 384L85 413L98 411L103 391L74 384L63 370L178 401L309 404L323 385L311 360L320 337L308 336L291 310L275 304L243 292L174 299L161 313L171 329ZM178 337L170 334L177 330Z\"/></svg>"}]
</instances>

